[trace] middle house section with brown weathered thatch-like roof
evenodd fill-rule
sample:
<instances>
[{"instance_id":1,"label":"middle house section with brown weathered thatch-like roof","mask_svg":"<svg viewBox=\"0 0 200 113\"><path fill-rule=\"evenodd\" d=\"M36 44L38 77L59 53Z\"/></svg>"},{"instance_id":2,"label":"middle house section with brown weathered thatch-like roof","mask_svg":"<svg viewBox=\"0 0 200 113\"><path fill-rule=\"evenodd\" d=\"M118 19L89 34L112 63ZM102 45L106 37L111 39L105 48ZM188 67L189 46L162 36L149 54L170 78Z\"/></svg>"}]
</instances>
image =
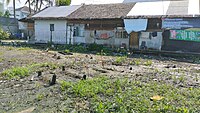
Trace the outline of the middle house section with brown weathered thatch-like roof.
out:
<instances>
[{"instance_id":1,"label":"middle house section with brown weathered thatch-like roof","mask_svg":"<svg viewBox=\"0 0 200 113\"><path fill-rule=\"evenodd\" d=\"M133 6L134 3L82 5L67 17L68 26L74 30L70 42L128 47L123 17Z\"/></svg>"}]
</instances>

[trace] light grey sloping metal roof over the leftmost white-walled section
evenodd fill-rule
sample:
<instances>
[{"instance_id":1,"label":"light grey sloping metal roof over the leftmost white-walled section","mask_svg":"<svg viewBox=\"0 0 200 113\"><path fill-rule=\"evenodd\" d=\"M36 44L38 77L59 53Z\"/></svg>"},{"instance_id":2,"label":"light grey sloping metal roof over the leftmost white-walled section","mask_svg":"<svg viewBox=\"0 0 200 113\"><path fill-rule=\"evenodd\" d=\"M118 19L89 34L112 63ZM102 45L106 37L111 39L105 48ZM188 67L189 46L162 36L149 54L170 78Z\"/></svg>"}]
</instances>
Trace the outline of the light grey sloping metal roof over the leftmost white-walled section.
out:
<instances>
[{"instance_id":1,"label":"light grey sloping metal roof over the leftmost white-walled section","mask_svg":"<svg viewBox=\"0 0 200 113\"><path fill-rule=\"evenodd\" d=\"M33 15L32 18L33 19L66 18L68 15L70 15L72 12L74 12L80 7L81 5L49 7Z\"/></svg>"}]
</instances>

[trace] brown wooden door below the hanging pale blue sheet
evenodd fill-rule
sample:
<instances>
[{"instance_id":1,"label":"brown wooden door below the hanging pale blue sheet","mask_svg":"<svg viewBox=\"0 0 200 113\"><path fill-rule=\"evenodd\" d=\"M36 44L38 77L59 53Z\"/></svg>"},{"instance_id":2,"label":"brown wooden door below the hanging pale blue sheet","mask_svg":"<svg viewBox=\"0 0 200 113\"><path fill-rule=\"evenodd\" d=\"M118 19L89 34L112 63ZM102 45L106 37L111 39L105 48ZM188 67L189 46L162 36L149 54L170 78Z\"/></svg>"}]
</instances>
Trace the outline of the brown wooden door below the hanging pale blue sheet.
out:
<instances>
[{"instance_id":1,"label":"brown wooden door below the hanging pale blue sheet","mask_svg":"<svg viewBox=\"0 0 200 113\"><path fill-rule=\"evenodd\" d=\"M132 32L130 34L129 45L130 45L130 48L132 48L132 49L139 49L139 37L138 37L138 33Z\"/></svg>"}]
</instances>

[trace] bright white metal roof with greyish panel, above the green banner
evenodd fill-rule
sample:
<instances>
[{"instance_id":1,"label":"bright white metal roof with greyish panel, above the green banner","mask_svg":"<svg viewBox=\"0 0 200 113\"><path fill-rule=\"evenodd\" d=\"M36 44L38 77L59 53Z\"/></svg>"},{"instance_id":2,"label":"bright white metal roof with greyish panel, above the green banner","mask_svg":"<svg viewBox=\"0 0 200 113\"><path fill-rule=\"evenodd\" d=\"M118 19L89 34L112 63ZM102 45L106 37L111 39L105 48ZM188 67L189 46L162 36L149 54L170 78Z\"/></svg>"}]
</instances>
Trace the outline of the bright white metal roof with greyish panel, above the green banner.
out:
<instances>
[{"instance_id":1,"label":"bright white metal roof with greyish panel, above the green banner","mask_svg":"<svg viewBox=\"0 0 200 113\"><path fill-rule=\"evenodd\" d=\"M199 0L137 2L127 17L199 15Z\"/></svg>"}]
</instances>

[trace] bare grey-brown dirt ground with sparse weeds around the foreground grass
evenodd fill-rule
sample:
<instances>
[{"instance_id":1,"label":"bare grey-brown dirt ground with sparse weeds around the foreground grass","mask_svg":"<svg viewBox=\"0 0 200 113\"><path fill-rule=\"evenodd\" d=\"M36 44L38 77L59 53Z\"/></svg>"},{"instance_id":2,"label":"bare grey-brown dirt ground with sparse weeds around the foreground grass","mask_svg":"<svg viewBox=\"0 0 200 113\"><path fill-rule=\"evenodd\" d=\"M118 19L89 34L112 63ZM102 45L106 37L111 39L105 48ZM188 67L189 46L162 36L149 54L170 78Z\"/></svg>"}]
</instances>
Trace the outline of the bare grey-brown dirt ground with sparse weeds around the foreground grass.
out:
<instances>
[{"instance_id":1,"label":"bare grey-brown dirt ground with sparse weeds around the foreground grass","mask_svg":"<svg viewBox=\"0 0 200 113\"><path fill-rule=\"evenodd\" d=\"M142 82L164 82L174 87L200 88L200 64L190 63L192 59L133 54L117 65L114 62L118 58L81 53L63 55L56 51L0 46L0 73L12 67L26 67L37 63L57 66L53 69L50 66L38 69L42 71L41 76L38 76L38 70L20 79L7 80L1 76L0 112L63 112L63 107L71 100L64 99L59 82L79 81L83 75L87 79L106 75ZM49 86L54 74L57 75L57 82Z\"/></svg>"}]
</instances>

